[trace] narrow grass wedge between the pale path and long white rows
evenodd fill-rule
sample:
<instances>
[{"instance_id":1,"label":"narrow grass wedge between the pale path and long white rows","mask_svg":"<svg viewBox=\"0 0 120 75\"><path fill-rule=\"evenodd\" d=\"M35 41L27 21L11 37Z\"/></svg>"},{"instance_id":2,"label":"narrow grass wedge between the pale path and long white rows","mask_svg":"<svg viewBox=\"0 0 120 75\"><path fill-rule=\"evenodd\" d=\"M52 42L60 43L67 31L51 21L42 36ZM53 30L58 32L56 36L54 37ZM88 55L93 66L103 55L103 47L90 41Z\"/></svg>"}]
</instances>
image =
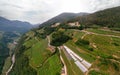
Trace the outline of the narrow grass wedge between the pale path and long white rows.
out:
<instances>
[{"instance_id":1,"label":"narrow grass wedge between the pale path and long white rows","mask_svg":"<svg viewBox=\"0 0 120 75\"><path fill-rule=\"evenodd\" d=\"M61 51L61 55L66 64L68 75L84 75L83 72L81 72L81 70L75 65L73 60L67 59L63 51Z\"/></svg>"}]
</instances>

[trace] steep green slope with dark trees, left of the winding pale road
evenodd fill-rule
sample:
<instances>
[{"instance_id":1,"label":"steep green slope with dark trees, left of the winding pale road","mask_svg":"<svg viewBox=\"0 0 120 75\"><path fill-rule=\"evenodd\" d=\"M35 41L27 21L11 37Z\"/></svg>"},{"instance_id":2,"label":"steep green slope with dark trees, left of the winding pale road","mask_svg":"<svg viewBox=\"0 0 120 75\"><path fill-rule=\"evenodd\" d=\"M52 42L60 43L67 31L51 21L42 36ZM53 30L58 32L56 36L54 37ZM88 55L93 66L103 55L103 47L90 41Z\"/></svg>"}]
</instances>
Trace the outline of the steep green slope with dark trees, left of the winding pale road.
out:
<instances>
[{"instance_id":1,"label":"steep green slope with dark trees, left of the winding pale road","mask_svg":"<svg viewBox=\"0 0 120 75\"><path fill-rule=\"evenodd\" d=\"M60 75L62 63L59 52L51 51L48 40L40 37L40 31L31 30L21 38L10 75Z\"/></svg>"}]
</instances>

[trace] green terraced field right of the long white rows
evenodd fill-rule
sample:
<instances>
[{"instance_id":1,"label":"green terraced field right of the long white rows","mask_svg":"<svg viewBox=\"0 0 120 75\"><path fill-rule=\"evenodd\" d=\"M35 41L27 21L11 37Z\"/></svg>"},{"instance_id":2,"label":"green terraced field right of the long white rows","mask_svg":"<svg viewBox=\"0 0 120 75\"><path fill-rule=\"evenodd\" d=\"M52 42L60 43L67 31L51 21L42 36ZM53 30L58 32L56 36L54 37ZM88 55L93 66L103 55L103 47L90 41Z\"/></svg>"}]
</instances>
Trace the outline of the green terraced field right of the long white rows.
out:
<instances>
[{"instance_id":1,"label":"green terraced field right of the long white rows","mask_svg":"<svg viewBox=\"0 0 120 75\"><path fill-rule=\"evenodd\" d=\"M119 36L120 34L97 29L88 29L97 34L107 34ZM120 74L120 38L87 34L83 39L89 41L89 45L76 45L75 41L83 36L83 33L73 31L72 40L69 40L65 45L72 49L75 53L90 63L93 63L89 75L119 75ZM75 39L75 40L74 40ZM92 51L89 50L92 48ZM94 70L95 69L95 70ZM96 70L97 69L97 70ZM112 72L112 73L111 73Z\"/></svg>"}]
</instances>

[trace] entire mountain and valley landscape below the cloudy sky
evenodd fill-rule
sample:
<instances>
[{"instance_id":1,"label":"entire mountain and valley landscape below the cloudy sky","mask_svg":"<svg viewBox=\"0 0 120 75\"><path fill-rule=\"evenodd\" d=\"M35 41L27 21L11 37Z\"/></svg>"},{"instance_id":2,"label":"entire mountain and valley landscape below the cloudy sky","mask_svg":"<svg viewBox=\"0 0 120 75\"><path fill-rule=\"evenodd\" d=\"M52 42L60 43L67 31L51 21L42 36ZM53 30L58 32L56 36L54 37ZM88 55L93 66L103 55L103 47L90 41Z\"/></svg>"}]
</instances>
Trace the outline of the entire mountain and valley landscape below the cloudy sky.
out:
<instances>
[{"instance_id":1,"label":"entire mountain and valley landscape below the cloudy sky","mask_svg":"<svg viewBox=\"0 0 120 75\"><path fill-rule=\"evenodd\" d=\"M36 28L27 22L0 18L3 27L0 31L0 73L120 75L118 9L120 7L91 14L62 13ZM10 26L7 30L6 21L18 26L15 29Z\"/></svg>"}]
</instances>

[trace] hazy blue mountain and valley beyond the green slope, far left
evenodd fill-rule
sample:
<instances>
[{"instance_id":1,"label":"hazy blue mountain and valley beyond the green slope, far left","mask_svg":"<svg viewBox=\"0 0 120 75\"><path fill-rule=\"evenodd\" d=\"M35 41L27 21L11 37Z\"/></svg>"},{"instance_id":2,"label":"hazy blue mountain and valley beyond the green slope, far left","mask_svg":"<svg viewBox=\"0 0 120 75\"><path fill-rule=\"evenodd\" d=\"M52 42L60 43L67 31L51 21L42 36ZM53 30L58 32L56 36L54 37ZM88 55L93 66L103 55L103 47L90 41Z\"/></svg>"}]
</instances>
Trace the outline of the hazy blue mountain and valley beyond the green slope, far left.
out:
<instances>
[{"instance_id":1,"label":"hazy blue mountain and valley beyond the green slope, far left","mask_svg":"<svg viewBox=\"0 0 120 75\"><path fill-rule=\"evenodd\" d=\"M0 17L0 74L9 68L17 40L32 27L28 22Z\"/></svg>"}]
</instances>

